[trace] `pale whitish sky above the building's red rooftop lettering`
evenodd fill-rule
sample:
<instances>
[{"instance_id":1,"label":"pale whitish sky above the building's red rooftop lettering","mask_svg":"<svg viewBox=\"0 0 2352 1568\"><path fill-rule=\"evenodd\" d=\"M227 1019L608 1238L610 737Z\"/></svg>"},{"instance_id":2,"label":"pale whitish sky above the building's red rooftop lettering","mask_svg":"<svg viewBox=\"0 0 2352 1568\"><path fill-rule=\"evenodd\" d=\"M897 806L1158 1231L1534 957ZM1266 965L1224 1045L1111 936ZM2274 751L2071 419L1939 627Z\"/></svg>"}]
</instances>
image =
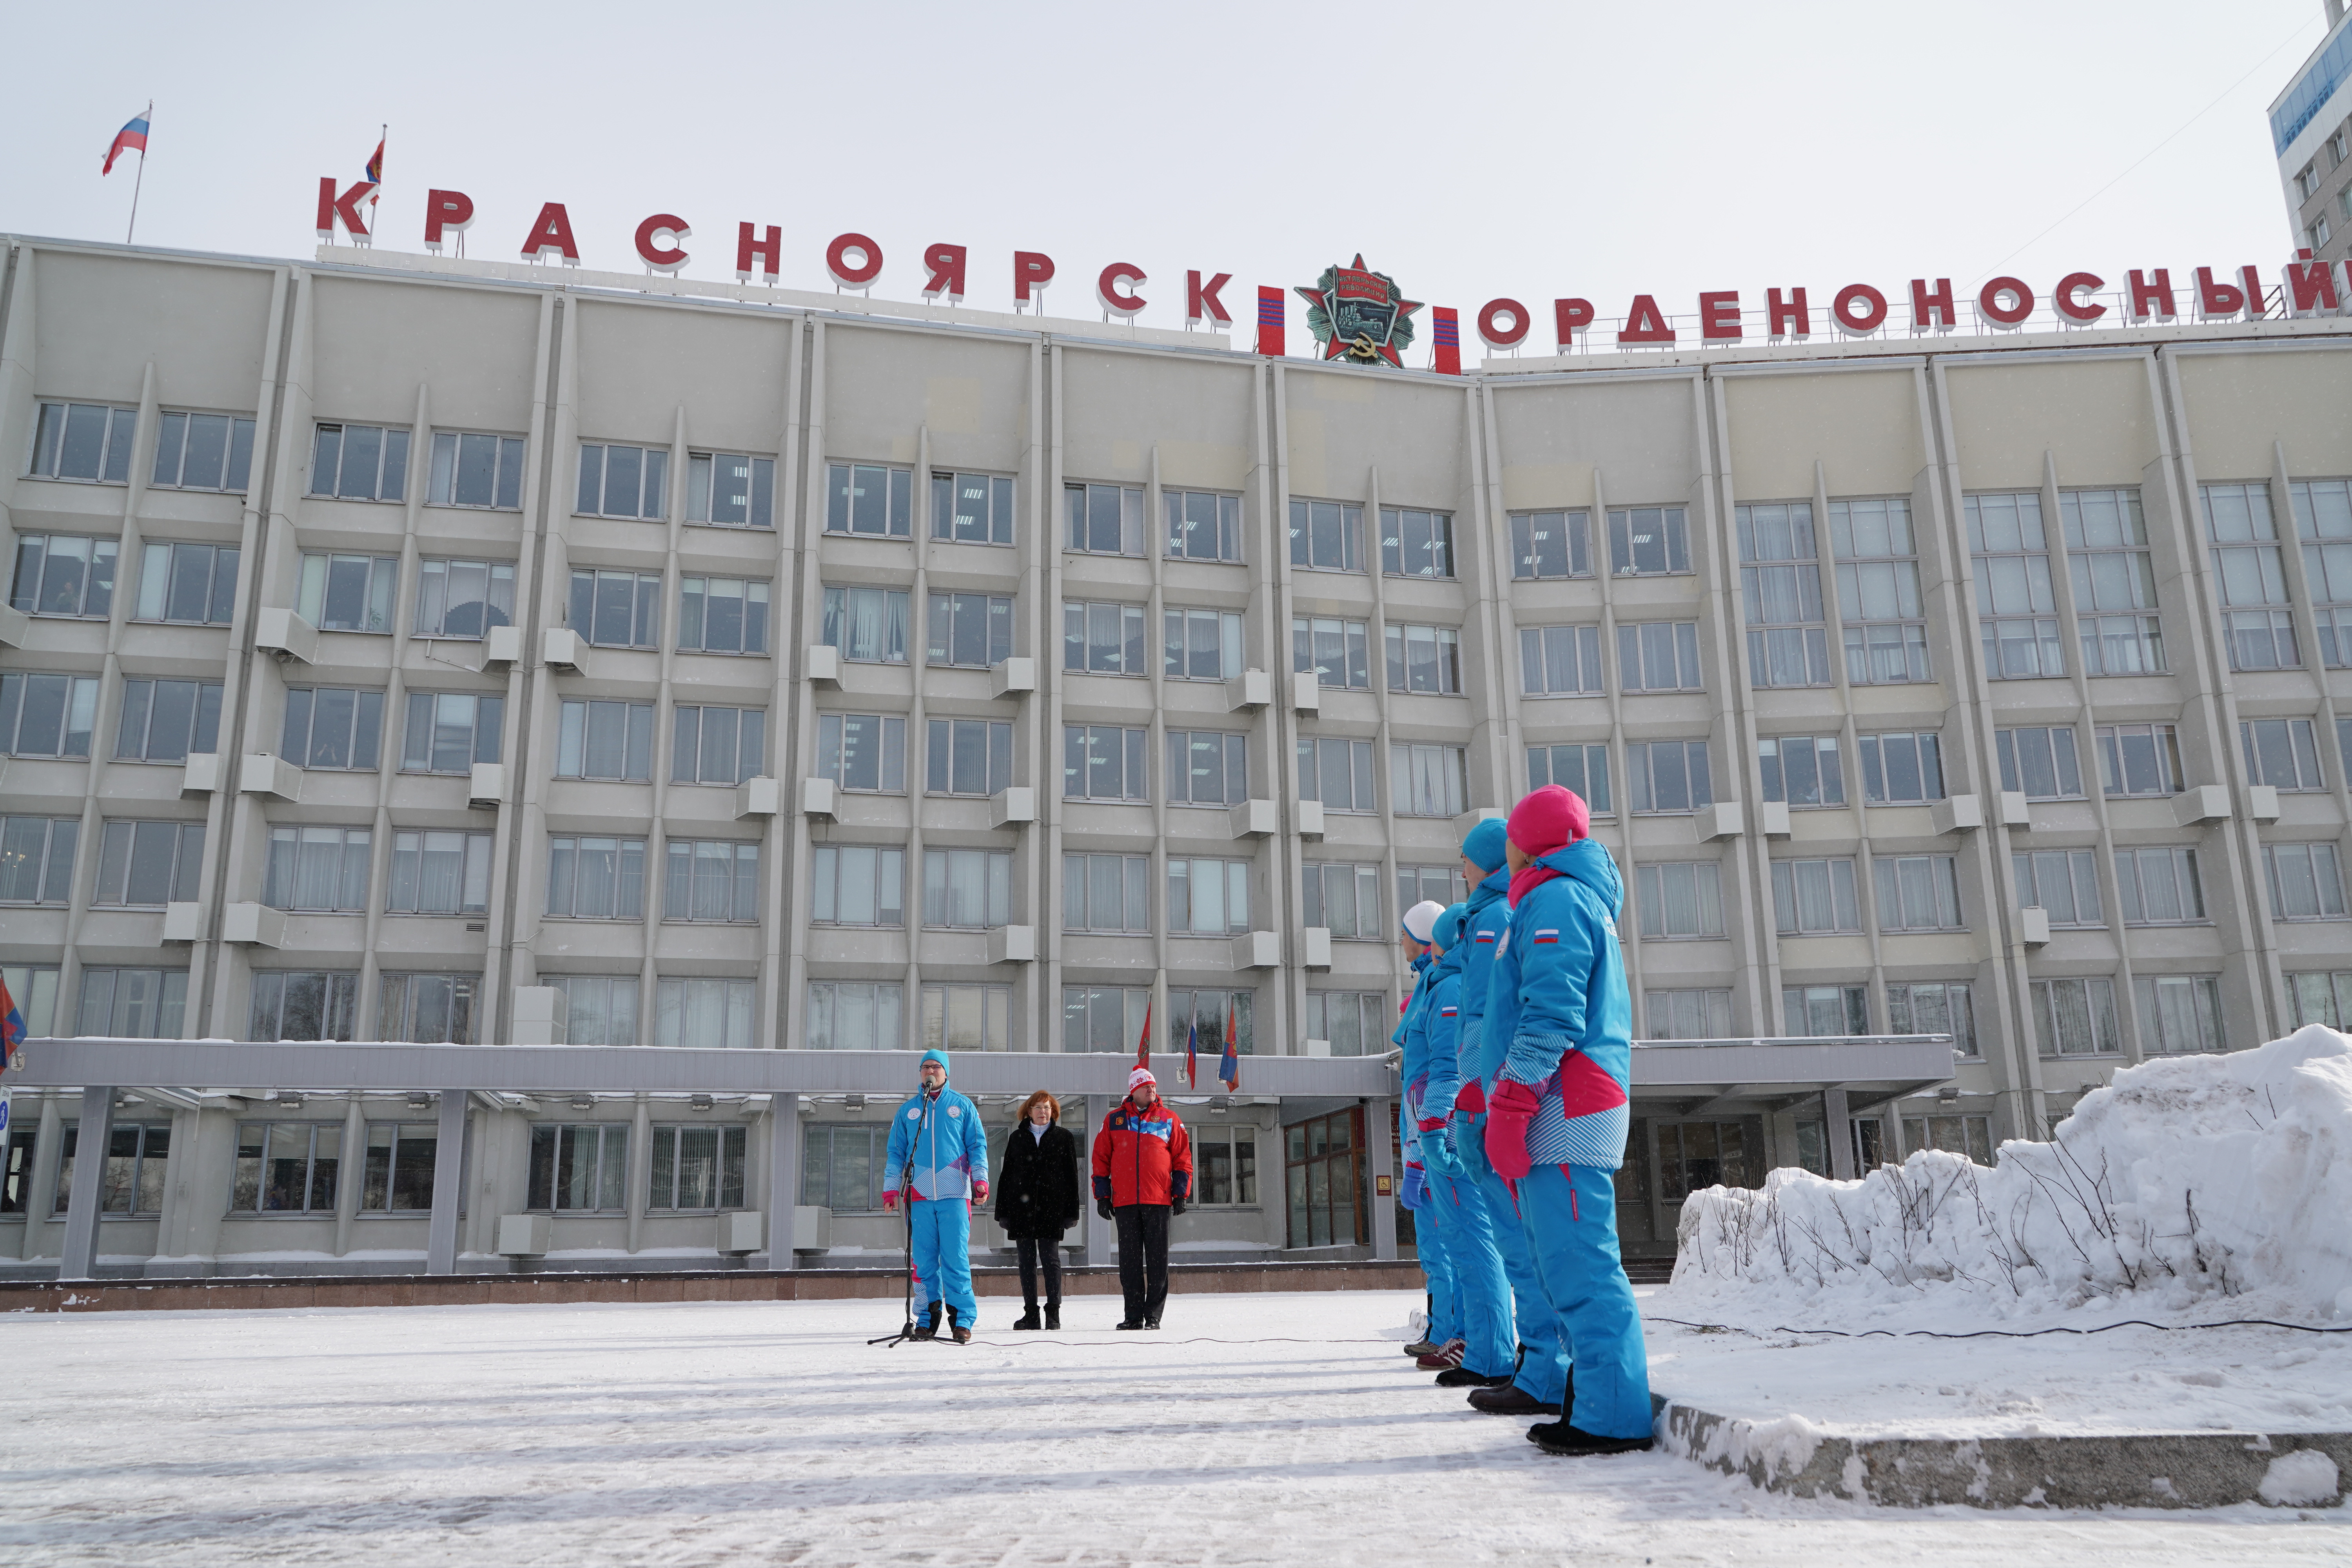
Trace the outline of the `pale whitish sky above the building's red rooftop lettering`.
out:
<instances>
[{"instance_id":1,"label":"pale whitish sky above the building's red rooftop lettering","mask_svg":"<svg viewBox=\"0 0 2352 1568\"><path fill-rule=\"evenodd\" d=\"M748 219L783 228L779 282L826 289L826 242L863 230L875 299L915 299L946 240L967 303L1011 308L1011 252L1042 249L1054 315L1096 315L1094 275L1134 261L1157 327L1185 268L1232 273L1247 324L1254 284L1355 252L1465 334L1498 294L1548 327L1559 294L1606 317L1635 292L2274 275L2265 108L2321 35L2321 0L0 0L0 230L122 240L134 167L99 162L153 99L139 240L263 256L310 254L318 179L358 179L390 122L386 249L423 249L447 186L475 259L560 200L590 268L637 270L637 219L677 212L687 277L731 280Z\"/></svg>"}]
</instances>

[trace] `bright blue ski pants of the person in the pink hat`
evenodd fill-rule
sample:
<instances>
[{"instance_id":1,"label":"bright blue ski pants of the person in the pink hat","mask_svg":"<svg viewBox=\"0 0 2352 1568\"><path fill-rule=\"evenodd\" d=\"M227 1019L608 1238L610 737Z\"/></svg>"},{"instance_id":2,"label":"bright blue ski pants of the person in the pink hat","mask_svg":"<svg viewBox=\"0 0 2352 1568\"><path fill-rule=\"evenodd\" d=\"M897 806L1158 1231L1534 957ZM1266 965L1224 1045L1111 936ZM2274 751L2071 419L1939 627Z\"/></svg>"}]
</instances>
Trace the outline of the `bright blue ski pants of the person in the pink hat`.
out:
<instances>
[{"instance_id":1,"label":"bright blue ski pants of the person in the pink hat","mask_svg":"<svg viewBox=\"0 0 2352 1568\"><path fill-rule=\"evenodd\" d=\"M1592 1166L1536 1166L1517 1182L1536 1281L1576 1366L1569 1425L1649 1436L1649 1352L1616 1239L1616 1182Z\"/></svg>"}]
</instances>

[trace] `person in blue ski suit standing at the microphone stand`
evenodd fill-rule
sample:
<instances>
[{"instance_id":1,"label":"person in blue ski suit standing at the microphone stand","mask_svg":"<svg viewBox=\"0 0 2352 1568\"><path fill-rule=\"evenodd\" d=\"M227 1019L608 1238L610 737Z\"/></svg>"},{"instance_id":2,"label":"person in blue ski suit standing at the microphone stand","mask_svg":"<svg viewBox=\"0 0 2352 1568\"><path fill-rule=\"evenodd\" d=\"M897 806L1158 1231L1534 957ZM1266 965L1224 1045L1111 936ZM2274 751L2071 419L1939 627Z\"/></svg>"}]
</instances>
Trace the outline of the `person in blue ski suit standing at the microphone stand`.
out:
<instances>
[{"instance_id":1,"label":"person in blue ski suit standing at the microphone stand","mask_svg":"<svg viewBox=\"0 0 2352 1568\"><path fill-rule=\"evenodd\" d=\"M948 1309L955 1342L969 1345L981 1319L971 1295L971 1204L988 1201L988 1135L981 1107L948 1088L948 1053L924 1051L922 1088L889 1124L889 1187L882 1206L908 1201L908 1251L915 1255L915 1338L938 1333Z\"/></svg>"}]
</instances>

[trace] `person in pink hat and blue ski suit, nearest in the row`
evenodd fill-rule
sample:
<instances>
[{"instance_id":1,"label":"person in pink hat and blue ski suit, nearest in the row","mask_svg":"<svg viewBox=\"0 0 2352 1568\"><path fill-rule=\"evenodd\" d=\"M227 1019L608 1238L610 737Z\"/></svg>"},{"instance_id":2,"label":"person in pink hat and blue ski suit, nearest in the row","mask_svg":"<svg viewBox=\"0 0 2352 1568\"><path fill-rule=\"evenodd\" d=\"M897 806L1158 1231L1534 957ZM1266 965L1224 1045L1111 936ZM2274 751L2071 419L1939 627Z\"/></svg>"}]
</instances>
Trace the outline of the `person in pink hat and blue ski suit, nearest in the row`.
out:
<instances>
[{"instance_id":1,"label":"person in pink hat and blue ski suit, nearest in the row","mask_svg":"<svg viewBox=\"0 0 2352 1568\"><path fill-rule=\"evenodd\" d=\"M1510 1041L1486 1093L1486 1159L1519 1199L1536 1279L1576 1363L1564 1420L1529 1427L1545 1453L1651 1446L1649 1356L1616 1239L1625 1161L1632 999L1616 860L1585 837L1585 802L1559 785L1508 823L1510 926L1486 992L1486 1034Z\"/></svg>"}]
</instances>

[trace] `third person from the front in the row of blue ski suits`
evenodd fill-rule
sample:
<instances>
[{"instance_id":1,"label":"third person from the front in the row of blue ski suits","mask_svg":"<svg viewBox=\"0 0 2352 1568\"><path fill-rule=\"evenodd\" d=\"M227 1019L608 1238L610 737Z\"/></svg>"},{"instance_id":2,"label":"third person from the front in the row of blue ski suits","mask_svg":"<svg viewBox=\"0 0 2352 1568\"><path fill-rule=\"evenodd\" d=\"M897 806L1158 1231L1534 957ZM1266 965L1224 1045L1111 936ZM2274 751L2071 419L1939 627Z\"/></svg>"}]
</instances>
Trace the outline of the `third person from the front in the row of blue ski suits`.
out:
<instances>
[{"instance_id":1,"label":"third person from the front in the row of blue ski suits","mask_svg":"<svg viewBox=\"0 0 2352 1568\"><path fill-rule=\"evenodd\" d=\"M1446 1260L1454 1265L1454 1298L1461 1312L1463 1342L1461 1347L1449 1347L1449 1356L1442 1359L1451 1359L1454 1363L1437 1373L1437 1387L1446 1389L1508 1385L1515 1366L1510 1286L1503 1279L1503 1255L1494 1246L1494 1222L1486 1213L1486 1199L1444 1138L1446 1114L1454 1110L1454 1091L1461 1086L1461 1060L1454 1046L1456 1025L1461 1023L1461 929L1463 905L1454 905L1439 914L1430 929L1430 940L1439 947L1439 957L1421 978L1428 1001L1414 1013L1406 1032L1406 1053L1414 1053L1418 1044L1423 1060L1423 1077L1406 1088L1414 1138L1421 1145L1421 1164L1428 1168L1428 1197L1421 1215L1428 1215L1444 1239Z\"/></svg>"}]
</instances>

